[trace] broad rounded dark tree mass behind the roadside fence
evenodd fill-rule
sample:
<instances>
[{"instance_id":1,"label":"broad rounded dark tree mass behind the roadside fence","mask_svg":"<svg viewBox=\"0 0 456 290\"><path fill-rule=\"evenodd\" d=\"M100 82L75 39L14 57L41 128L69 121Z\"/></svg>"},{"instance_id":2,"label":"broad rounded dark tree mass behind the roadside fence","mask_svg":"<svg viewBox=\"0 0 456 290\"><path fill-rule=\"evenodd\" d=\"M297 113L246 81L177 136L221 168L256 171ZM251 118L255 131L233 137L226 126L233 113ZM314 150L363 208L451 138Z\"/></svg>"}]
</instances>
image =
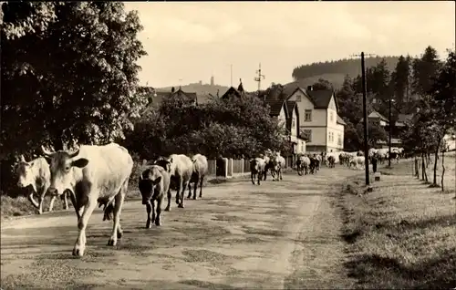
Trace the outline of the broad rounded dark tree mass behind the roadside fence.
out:
<instances>
[{"instance_id":1,"label":"broad rounded dark tree mass behind the roadside fence","mask_svg":"<svg viewBox=\"0 0 456 290\"><path fill-rule=\"evenodd\" d=\"M197 152L208 158L241 158L265 149L286 153L290 149L284 133L255 96L215 98L202 106L175 96L138 119L125 144L141 159Z\"/></svg>"}]
</instances>

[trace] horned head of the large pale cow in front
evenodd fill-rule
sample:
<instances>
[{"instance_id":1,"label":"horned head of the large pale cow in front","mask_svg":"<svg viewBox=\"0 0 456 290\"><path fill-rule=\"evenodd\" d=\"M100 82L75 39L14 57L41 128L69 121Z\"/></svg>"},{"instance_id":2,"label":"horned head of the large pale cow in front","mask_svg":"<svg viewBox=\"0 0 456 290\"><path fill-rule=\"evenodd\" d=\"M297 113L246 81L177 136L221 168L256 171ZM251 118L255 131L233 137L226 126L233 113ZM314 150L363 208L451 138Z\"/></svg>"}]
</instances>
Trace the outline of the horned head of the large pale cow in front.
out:
<instances>
[{"instance_id":1,"label":"horned head of the large pale cow in front","mask_svg":"<svg viewBox=\"0 0 456 290\"><path fill-rule=\"evenodd\" d=\"M73 191L76 185L73 170L75 167L84 168L88 165L88 160L85 158L76 159L79 150L67 151L59 150L51 152L41 146L41 150L49 163L51 171L51 185L49 192L54 195L62 194L66 190Z\"/></svg>"}]
</instances>

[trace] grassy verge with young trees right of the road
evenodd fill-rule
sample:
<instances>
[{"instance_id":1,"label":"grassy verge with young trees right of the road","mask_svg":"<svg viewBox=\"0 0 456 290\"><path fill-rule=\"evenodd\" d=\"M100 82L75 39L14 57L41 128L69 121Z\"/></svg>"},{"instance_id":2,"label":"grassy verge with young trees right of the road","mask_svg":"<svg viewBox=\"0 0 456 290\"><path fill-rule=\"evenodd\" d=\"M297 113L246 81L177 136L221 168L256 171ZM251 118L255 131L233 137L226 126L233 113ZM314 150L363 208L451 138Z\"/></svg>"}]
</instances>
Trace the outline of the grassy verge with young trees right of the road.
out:
<instances>
[{"instance_id":1,"label":"grassy verge with young trees right of the road","mask_svg":"<svg viewBox=\"0 0 456 290\"><path fill-rule=\"evenodd\" d=\"M445 192L412 177L411 161L380 168L373 192L363 190L360 176L344 185L338 206L350 256L346 266L358 288L456 287L455 159L454 152L445 158ZM433 163L430 181L432 169Z\"/></svg>"}]
</instances>

